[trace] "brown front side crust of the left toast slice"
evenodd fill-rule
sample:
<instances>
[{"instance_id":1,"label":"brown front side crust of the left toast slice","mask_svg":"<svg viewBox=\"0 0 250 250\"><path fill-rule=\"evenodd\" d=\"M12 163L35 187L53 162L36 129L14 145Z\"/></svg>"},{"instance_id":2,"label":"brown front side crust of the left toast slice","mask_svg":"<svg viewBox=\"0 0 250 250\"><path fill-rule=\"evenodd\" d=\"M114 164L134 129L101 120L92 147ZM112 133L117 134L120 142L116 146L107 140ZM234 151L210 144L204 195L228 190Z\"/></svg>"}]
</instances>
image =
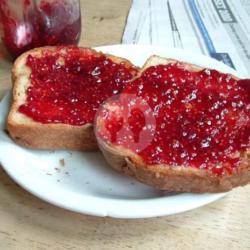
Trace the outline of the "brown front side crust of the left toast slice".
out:
<instances>
[{"instance_id":1,"label":"brown front side crust of the left toast slice","mask_svg":"<svg viewBox=\"0 0 250 250\"><path fill-rule=\"evenodd\" d=\"M19 145L34 149L97 149L93 125L16 124L9 121L7 130Z\"/></svg>"}]
</instances>

